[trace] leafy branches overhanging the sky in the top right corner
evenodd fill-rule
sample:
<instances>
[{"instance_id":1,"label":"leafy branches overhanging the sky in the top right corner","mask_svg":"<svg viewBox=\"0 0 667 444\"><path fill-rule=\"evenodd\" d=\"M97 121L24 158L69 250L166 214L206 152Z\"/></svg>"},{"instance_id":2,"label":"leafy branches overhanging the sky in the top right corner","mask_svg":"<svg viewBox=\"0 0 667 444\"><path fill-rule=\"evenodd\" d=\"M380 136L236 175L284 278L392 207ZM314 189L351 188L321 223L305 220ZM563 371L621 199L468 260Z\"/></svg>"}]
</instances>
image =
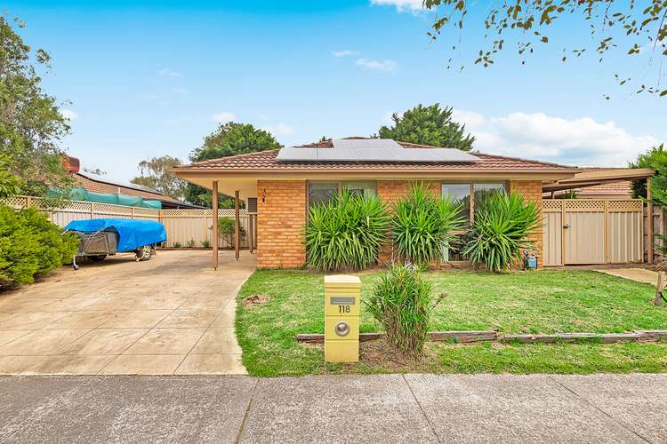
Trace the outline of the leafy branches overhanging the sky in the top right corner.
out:
<instances>
[{"instance_id":1,"label":"leafy branches overhanging the sky in the top right corner","mask_svg":"<svg viewBox=\"0 0 667 444\"><path fill-rule=\"evenodd\" d=\"M479 24L486 28L486 44L478 51L470 52L470 59L484 67L492 66L496 55L508 47L515 47L521 63L526 63L526 56L533 54L538 45L554 44L557 37L572 34L568 31L550 37L551 28L569 14L575 20L568 25L588 29L591 43L580 44L583 40L579 39L578 46L564 47L559 56L563 62L569 56L580 57L588 52L602 62L607 52L619 48L622 54L632 58L623 67L636 73L639 79L615 72L616 81L621 85L633 85L637 93L667 96L667 89L664 83L661 84L662 64L667 58L667 2L664 0L502 0L493 3L424 0L423 5L438 12L428 33L434 40L446 28L461 33L469 26L471 17L478 18ZM451 49L452 52L461 51L456 44ZM649 59L638 58L639 54L647 52ZM453 59L449 59L448 67L452 63ZM463 67L465 63L460 69ZM652 76L650 68L655 71Z\"/></svg>"}]
</instances>

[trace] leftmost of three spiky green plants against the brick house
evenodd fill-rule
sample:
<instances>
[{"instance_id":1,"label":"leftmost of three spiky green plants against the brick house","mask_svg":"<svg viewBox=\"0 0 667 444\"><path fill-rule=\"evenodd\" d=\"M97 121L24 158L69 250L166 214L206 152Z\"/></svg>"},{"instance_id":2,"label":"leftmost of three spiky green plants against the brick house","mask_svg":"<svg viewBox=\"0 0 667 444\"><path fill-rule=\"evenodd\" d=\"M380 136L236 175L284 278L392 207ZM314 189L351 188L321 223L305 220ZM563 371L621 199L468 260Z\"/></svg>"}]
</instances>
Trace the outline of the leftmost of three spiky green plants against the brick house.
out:
<instances>
[{"instance_id":1,"label":"leftmost of three spiky green plants against the brick house","mask_svg":"<svg viewBox=\"0 0 667 444\"><path fill-rule=\"evenodd\" d=\"M343 189L312 205L305 226L306 263L318 270L363 270L377 262L389 231L387 207L377 196Z\"/></svg>"}]
</instances>

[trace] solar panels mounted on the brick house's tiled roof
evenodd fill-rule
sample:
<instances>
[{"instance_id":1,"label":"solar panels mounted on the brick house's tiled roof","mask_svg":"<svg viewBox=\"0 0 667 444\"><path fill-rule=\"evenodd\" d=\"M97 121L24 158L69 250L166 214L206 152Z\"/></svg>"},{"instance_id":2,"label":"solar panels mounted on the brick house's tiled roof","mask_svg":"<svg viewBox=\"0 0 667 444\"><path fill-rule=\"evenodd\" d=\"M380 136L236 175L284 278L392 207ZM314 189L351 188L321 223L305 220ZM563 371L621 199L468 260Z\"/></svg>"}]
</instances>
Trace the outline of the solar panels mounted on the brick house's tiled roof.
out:
<instances>
[{"instance_id":1,"label":"solar panels mounted on the brick house's tiled roof","mask_svg":"<svg viewBox=\"0 0 667 444\"><path fill-rule=\"evenodd\" d=\"M453 148L406 148L392 139L333 139L332 148L282 148L280 162L470 163L479 159Z\"/></svg>"}]
</instances>

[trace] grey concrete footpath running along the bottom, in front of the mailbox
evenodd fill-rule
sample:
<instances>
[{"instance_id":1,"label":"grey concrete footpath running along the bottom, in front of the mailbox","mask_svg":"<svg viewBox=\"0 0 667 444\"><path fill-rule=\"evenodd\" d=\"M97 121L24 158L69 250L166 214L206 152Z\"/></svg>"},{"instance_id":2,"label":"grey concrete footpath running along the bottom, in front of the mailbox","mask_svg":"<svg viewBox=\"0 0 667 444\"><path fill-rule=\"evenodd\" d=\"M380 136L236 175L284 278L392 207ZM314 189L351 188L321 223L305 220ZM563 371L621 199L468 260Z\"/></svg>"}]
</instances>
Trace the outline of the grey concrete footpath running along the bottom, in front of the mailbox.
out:
<instances>
[{"instance_id":1,"label":"grey concrete footpath running along the bottom, in front of the mailbox","mask_svg":"<svg viewBox=\"0 0 667 444\"><path fill-rule=\"evenodd\" d=\"M0 377L2 442L667 442L667 375Z\"/></svg>"}]
</instances>

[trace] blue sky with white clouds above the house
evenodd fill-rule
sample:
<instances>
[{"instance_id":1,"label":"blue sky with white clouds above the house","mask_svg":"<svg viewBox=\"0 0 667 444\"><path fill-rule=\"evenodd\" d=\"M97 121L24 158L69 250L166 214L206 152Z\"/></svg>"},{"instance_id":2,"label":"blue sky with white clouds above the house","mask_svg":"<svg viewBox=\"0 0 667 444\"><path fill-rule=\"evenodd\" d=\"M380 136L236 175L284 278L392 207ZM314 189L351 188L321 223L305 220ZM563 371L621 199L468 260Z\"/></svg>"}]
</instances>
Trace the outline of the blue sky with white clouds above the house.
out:
<instances>
[{"instance_id":1,"label":"blue sky with white clouds above the house","mask_svg":"<svg viewBox=\"0 0 667 444\"><path fill-rule=\"evenodd\" d=\"M52 54L44 87L71 102L64 147L109 178L132 178L151 156L186 160L228 119L293 145L372 134L420 102L454 107L488 153L624 166L667 140L667 99L614 83L615 68L635 59L560 62L563 46L589 38L575 20L554 28L526 66L506 52L493 68L459 73L445 68L449 46L461 37L467 62L483 29L430 44L433 15L415 11L418 0L373 2L10 0L4 12ZM650 82L644 65L621 72Z\"/></svg>"}]
</instances>

